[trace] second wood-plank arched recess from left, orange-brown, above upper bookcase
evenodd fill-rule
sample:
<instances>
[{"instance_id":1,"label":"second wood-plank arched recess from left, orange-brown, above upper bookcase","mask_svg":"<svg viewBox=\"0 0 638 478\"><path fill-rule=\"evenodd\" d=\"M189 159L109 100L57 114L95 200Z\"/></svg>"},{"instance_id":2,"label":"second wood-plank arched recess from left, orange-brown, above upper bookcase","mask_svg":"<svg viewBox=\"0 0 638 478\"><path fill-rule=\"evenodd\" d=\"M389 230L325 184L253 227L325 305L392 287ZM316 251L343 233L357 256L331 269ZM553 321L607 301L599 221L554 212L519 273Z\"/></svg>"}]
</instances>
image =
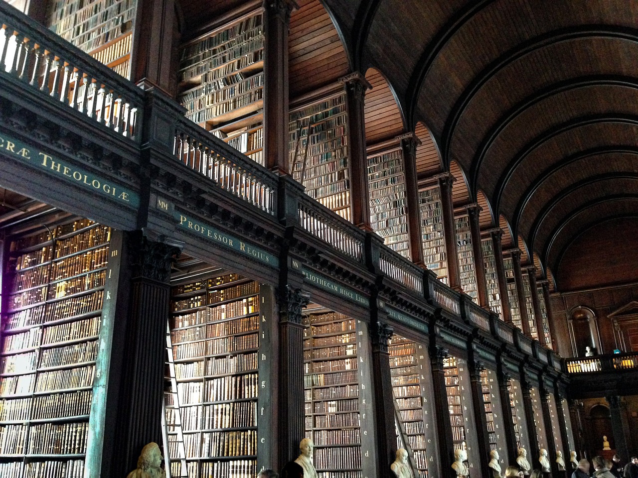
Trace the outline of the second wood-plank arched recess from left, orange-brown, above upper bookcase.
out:
<instances>
[{"instance_id":1,"label":"second wood-plank arched recess from left, orange-brown, above upper bookcase","mask_svg":"<svg viewBox=\"0 0 638 478\"><path fill-rule=\"evenodd\" d=\"M396 95L378 69L369 68L366 80L372 89L366 91L364 118L366 121L366 145L374 145L399 136L405 131L403 113Z\"/></svg>"}]
</instances>

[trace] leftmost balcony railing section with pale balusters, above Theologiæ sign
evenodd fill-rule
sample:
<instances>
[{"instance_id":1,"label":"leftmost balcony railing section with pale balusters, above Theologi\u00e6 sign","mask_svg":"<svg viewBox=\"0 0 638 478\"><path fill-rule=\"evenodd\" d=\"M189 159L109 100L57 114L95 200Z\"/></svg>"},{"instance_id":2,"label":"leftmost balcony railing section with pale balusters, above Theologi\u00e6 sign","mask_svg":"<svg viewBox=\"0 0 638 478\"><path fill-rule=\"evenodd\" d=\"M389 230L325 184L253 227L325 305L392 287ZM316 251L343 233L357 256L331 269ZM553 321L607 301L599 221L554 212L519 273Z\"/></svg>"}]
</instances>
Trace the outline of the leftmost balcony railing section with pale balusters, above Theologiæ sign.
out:
<instances>
[{"instance_id":1,"label":"leftmost balcony railing section with pale balusters, above Theologi\u00e6 sign","mask_svg":"<svg viewBox=\"0 0 638 478\"><path fill-rule=\"evenodd\" d=\"M0 78L140 141L143 91L5 2L0 23Z\"/></svg>"}]
</instances>

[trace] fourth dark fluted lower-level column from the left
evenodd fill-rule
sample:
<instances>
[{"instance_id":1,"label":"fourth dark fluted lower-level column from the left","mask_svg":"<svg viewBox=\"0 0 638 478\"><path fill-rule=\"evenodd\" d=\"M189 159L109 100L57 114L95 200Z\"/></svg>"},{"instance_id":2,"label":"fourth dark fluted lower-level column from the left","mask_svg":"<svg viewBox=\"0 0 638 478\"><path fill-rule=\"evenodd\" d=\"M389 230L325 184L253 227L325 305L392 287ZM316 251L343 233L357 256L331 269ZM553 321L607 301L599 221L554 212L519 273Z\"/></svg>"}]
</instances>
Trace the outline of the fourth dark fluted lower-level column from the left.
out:
<instances>
[{"instance_id":1,"label":"fourth dark fluted lower-level column from the left","mask_svg":"<svg viewBox=\"0 0 638 478\"><path fill-rule=\"evenodd\" d=\"M441 470L443 470L443 476L451 476L450 468L452 463L454 463L454 440L452 440L450 410L447 405L447 389L445 387L445 370L443 369L443 359L447 358L448 351L437 345L436 347L430 347L429 352Z\"/></svg>"}]
</instances>

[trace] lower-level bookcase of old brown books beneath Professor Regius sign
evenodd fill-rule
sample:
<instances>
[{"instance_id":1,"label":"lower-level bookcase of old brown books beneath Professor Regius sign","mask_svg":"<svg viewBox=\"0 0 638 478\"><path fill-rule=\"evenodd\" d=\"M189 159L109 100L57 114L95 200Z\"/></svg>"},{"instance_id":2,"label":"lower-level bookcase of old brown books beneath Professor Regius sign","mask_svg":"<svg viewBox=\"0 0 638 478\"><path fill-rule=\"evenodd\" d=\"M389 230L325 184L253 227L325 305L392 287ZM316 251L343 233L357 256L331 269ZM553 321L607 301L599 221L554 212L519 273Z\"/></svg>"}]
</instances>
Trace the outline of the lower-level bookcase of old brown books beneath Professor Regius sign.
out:
<instances>
[{"instance_id":1,"label":"lower-level bookcase of old brown books beneath Professor Regius sign","mask_svg":"<svg viewBox=\"0 0 638 478\"><path fill-rule=\"evenodd\" d=\"M188 476L254 477L257 463L260 284L237 274L172 288L170 339L179 409L165 394L169 454L179 476L181 423ZM175 419L179 414L179 421Z\"/></svg>"}]
</instances>

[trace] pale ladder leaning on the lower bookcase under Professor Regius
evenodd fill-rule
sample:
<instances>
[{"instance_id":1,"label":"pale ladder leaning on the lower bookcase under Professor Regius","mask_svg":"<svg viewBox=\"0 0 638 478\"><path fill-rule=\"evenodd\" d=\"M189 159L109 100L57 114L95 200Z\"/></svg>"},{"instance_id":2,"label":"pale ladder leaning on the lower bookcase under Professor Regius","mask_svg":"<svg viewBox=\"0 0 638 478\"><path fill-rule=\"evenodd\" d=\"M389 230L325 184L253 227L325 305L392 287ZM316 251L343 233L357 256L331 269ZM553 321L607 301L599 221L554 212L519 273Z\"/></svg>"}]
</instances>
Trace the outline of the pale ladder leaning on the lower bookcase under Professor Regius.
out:
<instances>
[{"instance_id":1,"label":"pale ladder leaning on the lower bookcase under Professor Regius","mask_svg":"<svg viewBox=\"0 0 638 478\"><path fill-rule=\"evenodd\" d=\"M179 410L179 397L177 396L177 377L175 376L175 361L173 358L173 342L170 338L170 326L166 324L166 352L167 352L167 386L165 398L170 396L170 400L164 400L163 415L161 417L163 440L164 440L164 462L167 478L188 477L186 469L186 449L184 448L184 435L182 434L182 414ZM167 420L167 412L171 411L170 421ZM168 422L168 423L167 423ZM169 440L168 427L170 427ZM174 466L177 465L177 466Z\"/></svg>"}]
</instances>

